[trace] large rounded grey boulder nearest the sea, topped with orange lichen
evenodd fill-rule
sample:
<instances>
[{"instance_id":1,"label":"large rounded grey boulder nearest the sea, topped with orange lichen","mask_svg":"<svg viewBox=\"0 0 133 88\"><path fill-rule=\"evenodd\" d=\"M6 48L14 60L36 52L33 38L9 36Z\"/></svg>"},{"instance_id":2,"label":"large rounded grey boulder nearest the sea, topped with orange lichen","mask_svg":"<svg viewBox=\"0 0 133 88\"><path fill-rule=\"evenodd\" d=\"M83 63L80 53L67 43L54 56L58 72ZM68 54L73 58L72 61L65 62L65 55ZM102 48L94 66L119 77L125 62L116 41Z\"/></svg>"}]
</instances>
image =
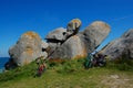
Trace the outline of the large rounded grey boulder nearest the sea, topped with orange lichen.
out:
<instances>
[{"instance_id":1,"label":"large rounded grey boulder nearest the sea, topped with orange lichen","mask_svg":"<svg viewBox=\"0 0 133 88\"><path fill-rule=\"evenodd\" d=\"M47 48L47 43L37 33L27 32L9 50L9 55L18 66L22 66L44 55L42 46Z\"/></svg>"}]
</instances>

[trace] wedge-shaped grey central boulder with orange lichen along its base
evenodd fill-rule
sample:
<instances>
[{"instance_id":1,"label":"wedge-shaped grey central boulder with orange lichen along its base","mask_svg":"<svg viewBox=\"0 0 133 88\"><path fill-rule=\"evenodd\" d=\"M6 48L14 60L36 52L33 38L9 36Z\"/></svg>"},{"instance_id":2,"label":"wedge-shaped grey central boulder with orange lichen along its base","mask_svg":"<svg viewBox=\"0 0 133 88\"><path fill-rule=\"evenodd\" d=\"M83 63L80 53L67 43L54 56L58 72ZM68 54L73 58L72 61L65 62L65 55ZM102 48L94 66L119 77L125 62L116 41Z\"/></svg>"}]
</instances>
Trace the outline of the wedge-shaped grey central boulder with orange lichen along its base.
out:
<instances>
[{"instance_id":1,"label":"wedge-shaped grey central boulder with orange lichen along its base","mask_svg":"<svg viewBox=\"0 0 133 88\"><path fill-rule=\"evenodd\" d=\"M83 46L80 37L78 35L71 36L66 42L64 42L61 46L57 47L54 53L50 56L50 58L81 58L86 55L86 50Z\"/></svg>"}]
</instances>

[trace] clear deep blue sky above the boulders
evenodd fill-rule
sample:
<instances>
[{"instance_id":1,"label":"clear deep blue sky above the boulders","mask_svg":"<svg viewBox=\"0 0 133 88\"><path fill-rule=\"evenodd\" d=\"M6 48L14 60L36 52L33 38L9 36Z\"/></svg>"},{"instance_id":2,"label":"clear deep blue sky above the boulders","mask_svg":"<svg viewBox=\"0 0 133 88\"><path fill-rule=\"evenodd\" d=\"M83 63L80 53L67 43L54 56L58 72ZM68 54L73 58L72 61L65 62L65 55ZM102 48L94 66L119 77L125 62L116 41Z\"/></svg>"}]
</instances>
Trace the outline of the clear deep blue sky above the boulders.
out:
<instances>
[{"instance_id":1,"label":"clear deep blue sky above the boulders","mask_svg":"<svg viewBox=\"0 0 133 88\"><path fill-rule=\"evenodd\" d=\"M81 19L82 30L96 20L110 24L102 47L133 28L133 0L0 0L0 57L22 33L35 31L44 38L74 18Z\"/></svg>"}]
</instances>

